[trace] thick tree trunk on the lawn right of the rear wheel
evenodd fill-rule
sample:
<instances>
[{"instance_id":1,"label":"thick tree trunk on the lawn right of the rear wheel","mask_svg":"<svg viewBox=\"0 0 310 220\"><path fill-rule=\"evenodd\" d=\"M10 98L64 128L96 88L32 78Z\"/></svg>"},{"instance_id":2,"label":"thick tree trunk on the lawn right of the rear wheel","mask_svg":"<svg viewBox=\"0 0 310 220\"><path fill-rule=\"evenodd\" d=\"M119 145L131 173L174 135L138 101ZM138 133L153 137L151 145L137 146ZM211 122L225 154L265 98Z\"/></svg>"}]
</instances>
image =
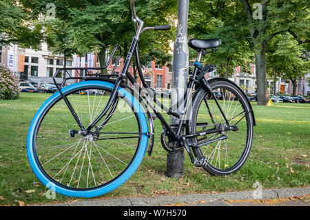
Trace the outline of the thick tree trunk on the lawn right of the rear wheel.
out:
<instances>
[{"instance_id":1,"label":"thick tree trunk on the lawn right of the rear wheel","mask_svg":"<svg viewBox=\"0 0 310 220\"><path fill-rule=\"evenodd\" d=\"M269 92L266 80L266 50L261 48L259 54L255 54L256 81L258 87L258 106L266 106L269 101Z\"/></svg>"}]
</instances>

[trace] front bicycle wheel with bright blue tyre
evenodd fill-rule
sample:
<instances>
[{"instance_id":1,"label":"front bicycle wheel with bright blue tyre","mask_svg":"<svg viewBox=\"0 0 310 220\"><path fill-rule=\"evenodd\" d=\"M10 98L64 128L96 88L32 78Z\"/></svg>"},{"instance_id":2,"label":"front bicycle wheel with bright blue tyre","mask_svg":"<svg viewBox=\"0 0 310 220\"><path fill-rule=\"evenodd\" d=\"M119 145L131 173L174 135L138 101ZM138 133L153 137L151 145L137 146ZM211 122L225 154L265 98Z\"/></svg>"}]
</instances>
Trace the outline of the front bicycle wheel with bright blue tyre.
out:
<instances>
[{"instance_id":1,"label":"front bicycle wheel with bright blue tyre","mask_svg":"<svg viewBox=\"0 0 310 220\"><path fill-rule=\"evenodd\" d=\"M107 105L113 88L107 81L84 81L62 92L87 128ZM87 92L94 90L100 92ZM94 128L88 134L72 134L81 129L61 94L43 103L30 125L27 150L32 170L45 186L66 196L98 197L134 174L147 148L147 120L130 90L118 88L115 104L100 132Z\"/></svg>"}]
</instances>

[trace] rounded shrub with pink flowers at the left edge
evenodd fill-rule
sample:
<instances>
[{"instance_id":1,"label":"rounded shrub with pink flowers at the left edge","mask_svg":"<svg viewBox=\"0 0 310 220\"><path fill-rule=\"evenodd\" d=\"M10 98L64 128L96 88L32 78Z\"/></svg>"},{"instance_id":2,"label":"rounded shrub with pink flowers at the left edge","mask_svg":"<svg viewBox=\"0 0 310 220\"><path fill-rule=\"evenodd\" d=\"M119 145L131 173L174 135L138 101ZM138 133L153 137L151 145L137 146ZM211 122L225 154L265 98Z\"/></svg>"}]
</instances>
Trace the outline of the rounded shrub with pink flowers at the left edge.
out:
<instances>
[{"instance_id":1,"label":"rounded shrub with pink flowers at the left edge","mask_svg":"<svg viewBox=\"0 0 310 220\"><path fill-rule=\"evenodd\" d=\"M18 99L19 83L12 71L0 65L0 99Z\"/></svg>"}]
</instances>

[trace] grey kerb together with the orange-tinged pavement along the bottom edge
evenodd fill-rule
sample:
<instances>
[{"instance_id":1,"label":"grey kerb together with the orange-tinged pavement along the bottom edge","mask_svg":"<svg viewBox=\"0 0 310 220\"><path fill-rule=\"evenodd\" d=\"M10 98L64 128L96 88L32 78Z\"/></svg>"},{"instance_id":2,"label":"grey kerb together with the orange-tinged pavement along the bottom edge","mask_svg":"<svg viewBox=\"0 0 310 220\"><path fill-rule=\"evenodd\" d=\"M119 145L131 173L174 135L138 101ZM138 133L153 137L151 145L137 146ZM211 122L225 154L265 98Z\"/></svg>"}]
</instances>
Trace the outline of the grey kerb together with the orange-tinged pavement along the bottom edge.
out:
<instances>
[{"instance_id":1,"label":"grey kerb together with the orange-tinged pavement along the bottom edge","mask_svg":"<svg viewBox=\"0 0 310 220\"><path fill-rule=\"evenodd\" d=\"M310 206L309 198L310 187L179 196L89 199L46 206Z\"/></svg>"}]
</instances>

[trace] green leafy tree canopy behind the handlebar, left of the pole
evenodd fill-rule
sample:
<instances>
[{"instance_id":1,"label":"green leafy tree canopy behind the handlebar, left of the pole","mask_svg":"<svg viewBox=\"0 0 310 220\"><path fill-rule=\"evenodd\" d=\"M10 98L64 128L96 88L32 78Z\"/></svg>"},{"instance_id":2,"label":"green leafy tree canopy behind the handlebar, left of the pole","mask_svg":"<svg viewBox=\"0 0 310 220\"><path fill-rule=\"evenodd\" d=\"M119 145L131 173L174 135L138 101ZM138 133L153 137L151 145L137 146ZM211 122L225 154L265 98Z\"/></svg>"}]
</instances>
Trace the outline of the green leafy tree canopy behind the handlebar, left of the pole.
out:
<instances>
[{"instance_id":1,"label":"green leafy tree canopy behind the handlebar, left of the pole","mask_svg":"<svg viewBox=\"0 0 310 220\"><path fill-rule=\"evenodd\" d=\"M120 44L124 54L129 50L132 37L134 36L134 24L132 22L132 14L130 11L130 1L116 0L116 1L101 1L101 0L38 0L25 1L24 4L31 8L37 16L40 13L46 12L46 5L54 3L56 8L56 19L58 26L65 24L62 32L65 34L65 41L63 41L62 34L59 34L59 39L54 39L54 45L59 45L59 48L69 46L69 49L74 49L76 53L86 54L87 52L96 51L99 56L99 63L101 67L105 66L105 52L112 50L116 44ZM148 26L159 24L166 24L171 19L171 12L174 10L176 3L169 1L138 1L136 10L140 14L141 19L145 21ZM60 27L61 27L60 26ZM54 28L50 26L50 30ZM59 30L59 28L57 28ZM52 32L55 32L52 30ZM55 33L54 33L55 34ZM57 34L56 34L57 35ZM52 35L51 35L52 36ZM156 32L152 34L143 33L140 49L147 53L146 61L150 57L156 57L161 61L167 60L163 56L164 50L169 49L168 37L172 34L163 34ZM70 41L68 41L70 39ZM61 42L63 41L63 42ZM58 43L56 43L58 42ZM157 48L156 52L151 48ZM150 52L150 53L149 53ZM106 70L103 70L106 73Z\"/></svg>"}]
</instances>

